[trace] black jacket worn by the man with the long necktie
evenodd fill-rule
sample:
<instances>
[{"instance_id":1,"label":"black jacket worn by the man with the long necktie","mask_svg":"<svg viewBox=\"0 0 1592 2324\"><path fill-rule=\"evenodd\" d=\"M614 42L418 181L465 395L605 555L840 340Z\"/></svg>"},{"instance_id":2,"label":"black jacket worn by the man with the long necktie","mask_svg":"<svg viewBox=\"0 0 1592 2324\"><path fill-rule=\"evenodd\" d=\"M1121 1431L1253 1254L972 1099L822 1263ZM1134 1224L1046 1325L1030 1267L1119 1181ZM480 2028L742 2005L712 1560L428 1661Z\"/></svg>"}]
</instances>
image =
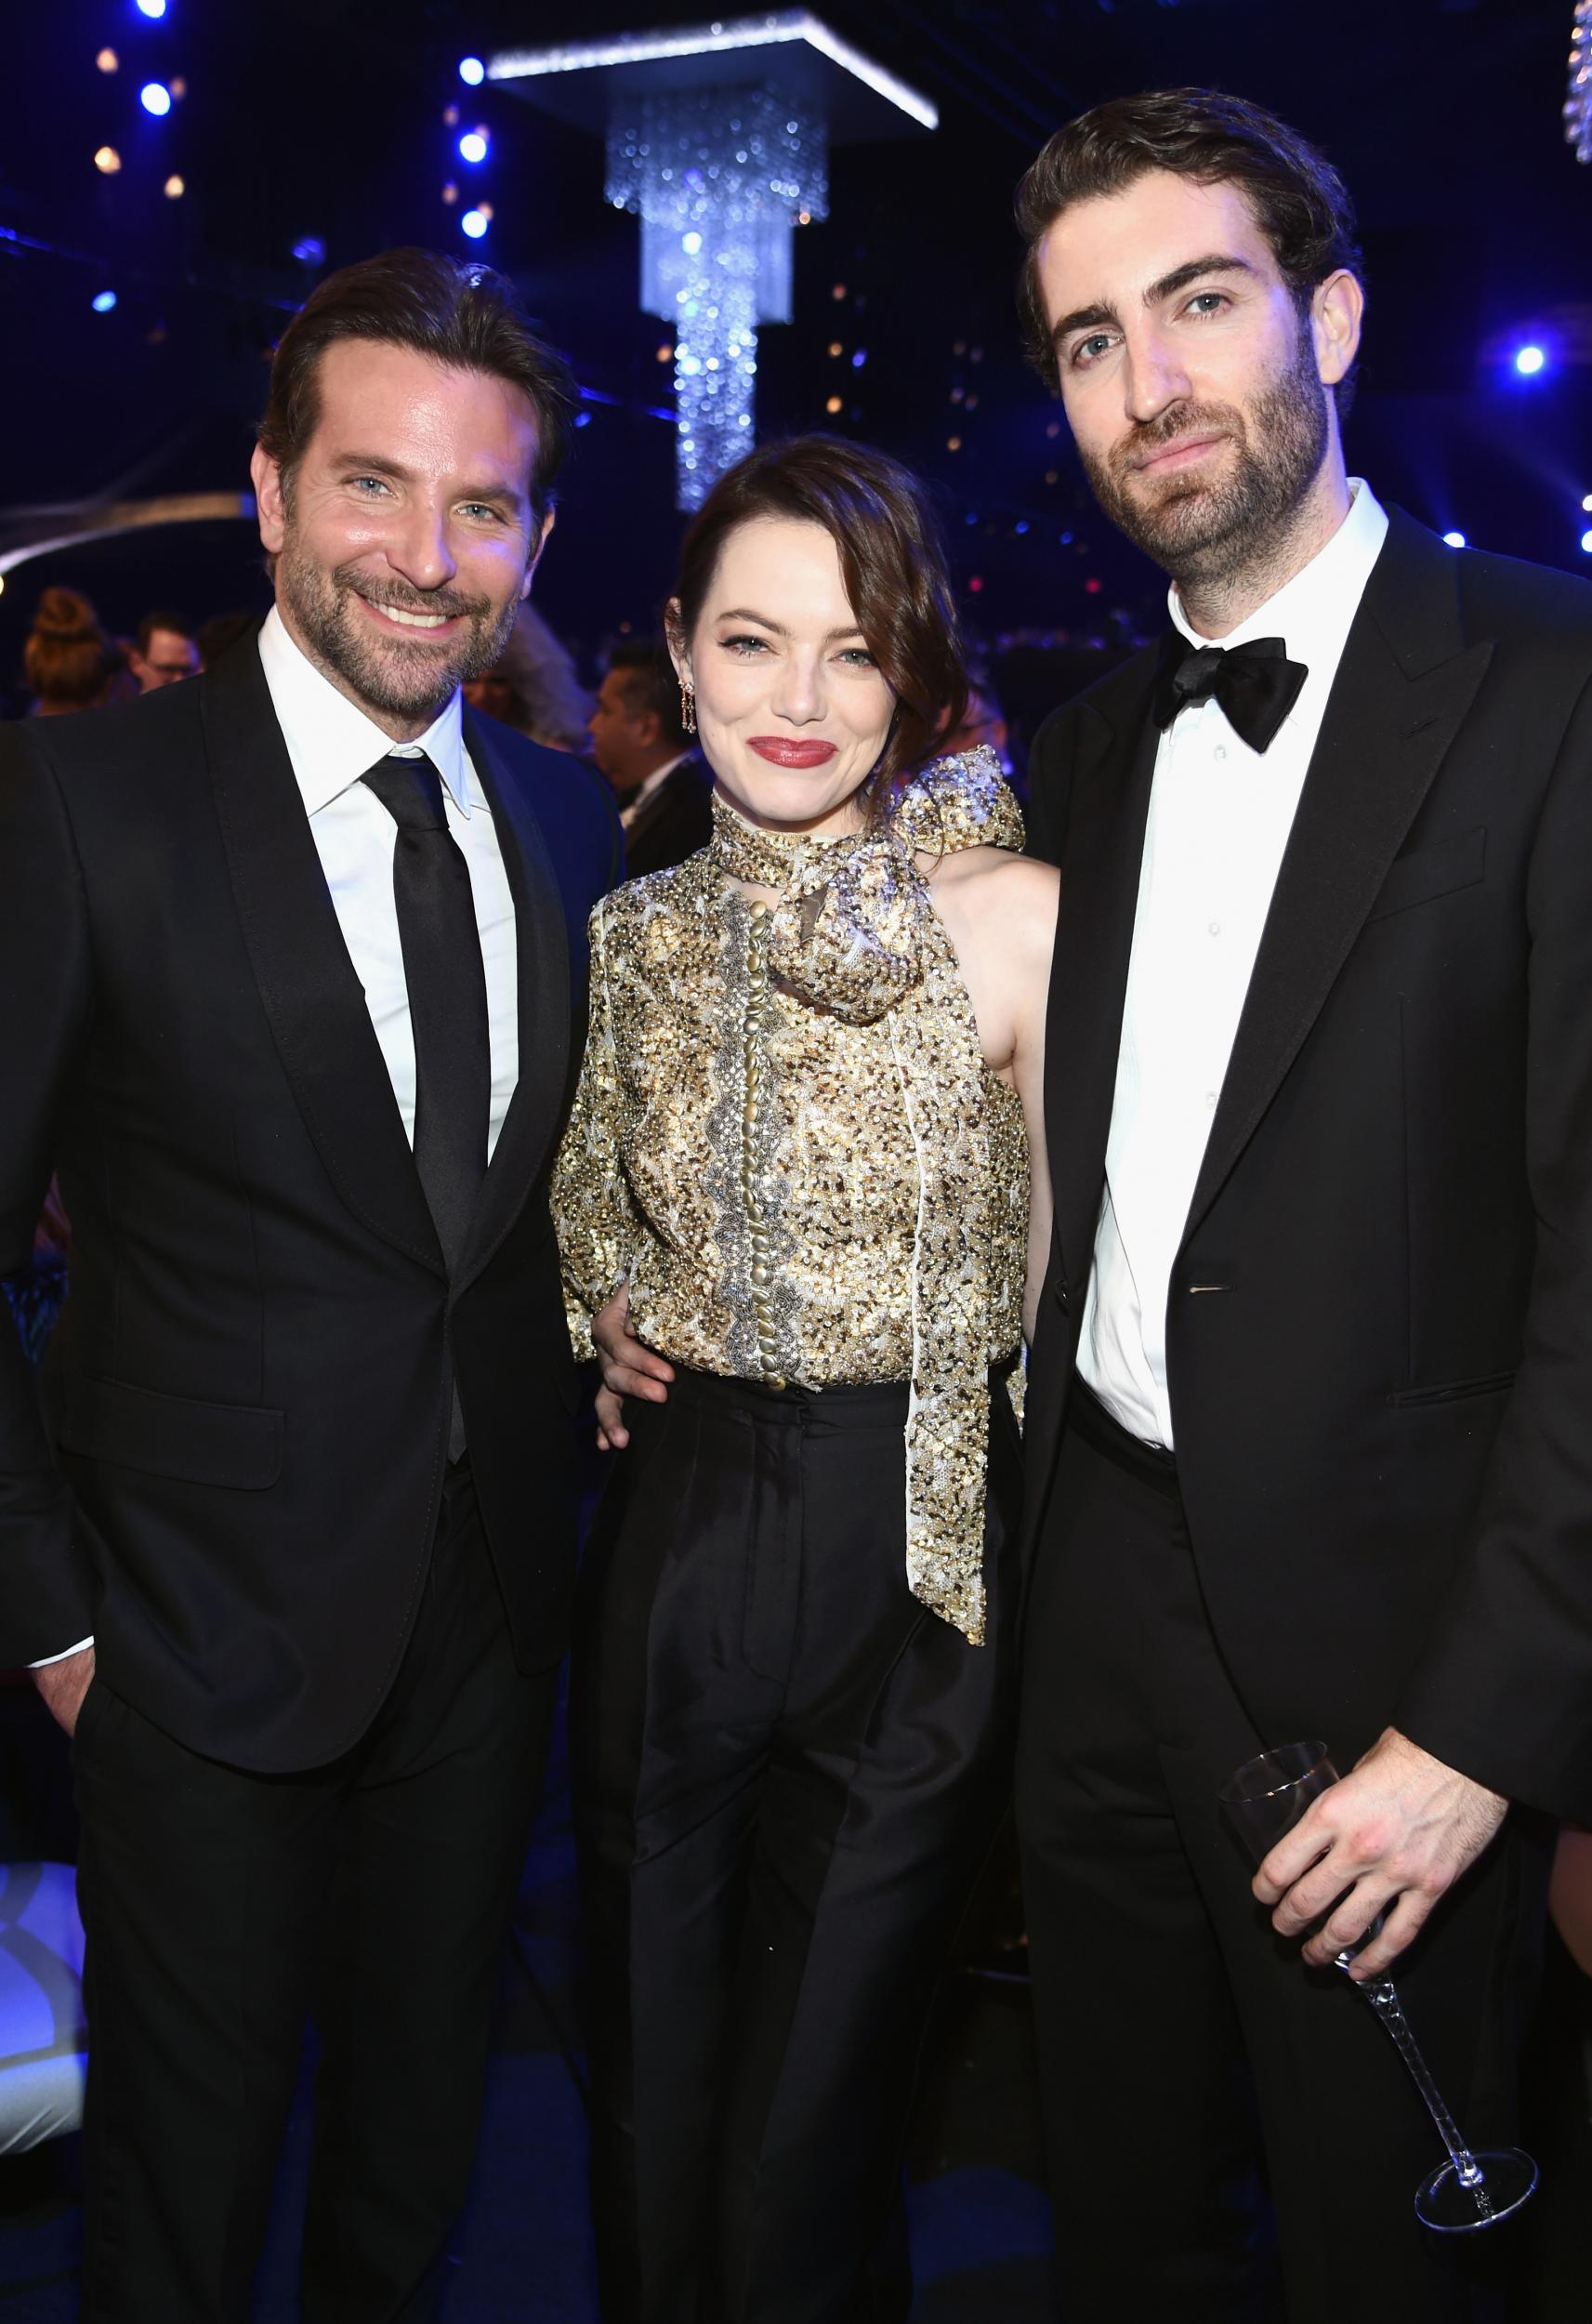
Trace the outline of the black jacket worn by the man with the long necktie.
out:
<instances>
[{"instance_id":1,"label":"black jacket worn by the man with the long necktie","mask_svg":"<svg viewBox=\"0 0 1592 2324\"><path fill-rule=\"evenodd\" d=\"M621 865L579 760L469 718L518 923L521 1074L449 1283L249 639L0 727L0 1271L51 1169L72 1297L40 1413L0 1332L0 1659L235 1766L367 1727L430 1555L453 1378L525 1669L565 1638L572 1362L546 1174Z\"/></svg>"}]
</instances>

